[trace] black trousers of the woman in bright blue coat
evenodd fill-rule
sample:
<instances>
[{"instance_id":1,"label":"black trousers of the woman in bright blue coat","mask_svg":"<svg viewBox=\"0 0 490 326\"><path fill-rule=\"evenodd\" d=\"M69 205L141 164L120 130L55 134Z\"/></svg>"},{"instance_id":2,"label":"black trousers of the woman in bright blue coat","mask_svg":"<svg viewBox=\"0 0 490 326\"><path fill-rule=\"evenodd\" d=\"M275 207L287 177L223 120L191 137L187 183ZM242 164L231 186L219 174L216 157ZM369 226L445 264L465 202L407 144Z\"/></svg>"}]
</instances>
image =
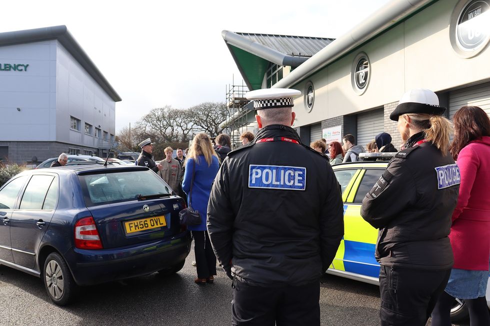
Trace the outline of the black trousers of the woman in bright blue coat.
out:
<instances>
[{"instance_id":1,"label":"black trousers of the woman in bright blue coat","mask_svg":"<svg viewBox=\"0 0 490 326\"><path fill-rule=\"evenodd\" d=\"M207 279L211 275L216 275L216 256L212 251L207 231L192 231L192 236L197 277Z\"/></svg>"}]
</instances>

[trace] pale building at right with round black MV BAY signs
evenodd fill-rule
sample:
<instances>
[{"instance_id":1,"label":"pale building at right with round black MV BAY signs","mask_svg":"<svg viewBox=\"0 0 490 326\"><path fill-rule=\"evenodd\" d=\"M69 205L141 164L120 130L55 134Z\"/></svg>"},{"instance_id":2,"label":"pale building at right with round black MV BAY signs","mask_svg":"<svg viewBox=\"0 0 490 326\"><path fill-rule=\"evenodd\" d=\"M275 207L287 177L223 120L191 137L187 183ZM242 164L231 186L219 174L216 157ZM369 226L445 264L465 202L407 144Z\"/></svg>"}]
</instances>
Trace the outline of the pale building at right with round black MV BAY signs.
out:
<instances>
[{"instance_id":1,"label":"pale building at right with round black MV BAY signs","mask_svg":"<svg viewBox=\"0 0 490 326\"><path fill-rule=\"evenodd\" d=\"M448 118L463 105L490 114L489 38L490 0L393 0L272 87L302 91L294 103L293 127L305 144L350 133L365 147L386 131L399 148L396 122L388 116L411 88L435 91ZM224 39L228 47L266 59L269 66L284 65L257 51L256 42ZM246 79L246 61L234 58ZM269 87L266 78L252 89ZM235 116L246 116L253 125L250 109Z\"/></svg>"}]
</instances>

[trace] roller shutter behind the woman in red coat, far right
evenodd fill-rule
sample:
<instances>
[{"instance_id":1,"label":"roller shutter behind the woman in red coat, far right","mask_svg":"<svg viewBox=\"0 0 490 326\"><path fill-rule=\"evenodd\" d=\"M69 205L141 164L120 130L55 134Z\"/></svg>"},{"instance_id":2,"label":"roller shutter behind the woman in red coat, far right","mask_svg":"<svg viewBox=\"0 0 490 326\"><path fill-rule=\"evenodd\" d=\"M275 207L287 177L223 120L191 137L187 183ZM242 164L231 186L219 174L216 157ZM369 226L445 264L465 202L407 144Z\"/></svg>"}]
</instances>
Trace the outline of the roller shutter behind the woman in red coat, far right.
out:
<instances>
[{"instance_id":1,"label":"roller shutter behind the woman in red coat, far right","mask_svg":"<svg viewBox=\"0 0 490 326\"><path fill-rule=\"evenodd\" d=\"M490 82L449 92L450 119L465 105L479 106L490 116Z\"/></svg>"}]
</instances>

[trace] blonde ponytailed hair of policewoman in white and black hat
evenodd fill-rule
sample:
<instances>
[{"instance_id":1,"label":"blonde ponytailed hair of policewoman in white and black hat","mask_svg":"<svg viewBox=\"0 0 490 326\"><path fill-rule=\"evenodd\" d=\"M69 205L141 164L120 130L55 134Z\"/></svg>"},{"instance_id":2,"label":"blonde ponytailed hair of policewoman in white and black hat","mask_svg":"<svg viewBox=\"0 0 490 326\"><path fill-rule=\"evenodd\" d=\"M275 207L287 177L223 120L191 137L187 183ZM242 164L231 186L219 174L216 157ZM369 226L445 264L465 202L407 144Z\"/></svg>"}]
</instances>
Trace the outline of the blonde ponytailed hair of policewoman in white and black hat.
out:
<instances>
[{"instance_id":1,"label":"blonde ponytailed hair of policewoman in white and black hat","mask_svg":"<svg viewBox=\"0 0 490 326\"><path fill-rule=\"evenodd\" d=\"M412 125L425 133L425 139L432 142L437 149L446 154L449 149L449 136L452 132L452 123L442 115L407 114Z\"/></svg>"}]
</instances>

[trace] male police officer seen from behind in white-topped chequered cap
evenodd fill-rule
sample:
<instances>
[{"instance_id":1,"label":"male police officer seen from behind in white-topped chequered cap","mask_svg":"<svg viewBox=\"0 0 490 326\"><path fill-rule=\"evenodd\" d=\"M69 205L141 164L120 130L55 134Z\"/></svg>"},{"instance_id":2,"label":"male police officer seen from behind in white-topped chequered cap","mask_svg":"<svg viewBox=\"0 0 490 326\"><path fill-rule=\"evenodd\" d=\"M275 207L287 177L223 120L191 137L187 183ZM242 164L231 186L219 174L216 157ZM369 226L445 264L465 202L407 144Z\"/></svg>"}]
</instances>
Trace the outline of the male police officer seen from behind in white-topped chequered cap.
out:
<instances>
[{"instance_id":1,"label":"male police officer seen from behind in white-topped chequered cap","mask_svg":"<svg viewBox=\"0 0 490 326\"><path fill-rule=\"evenodd\" d=\"M207 230L233 278L232 325L319 325L319 279L343 235L339 185L325 155L290 126L292 89L247 93L261 130L228 154Z\"/></svg>"}]
</instances>

